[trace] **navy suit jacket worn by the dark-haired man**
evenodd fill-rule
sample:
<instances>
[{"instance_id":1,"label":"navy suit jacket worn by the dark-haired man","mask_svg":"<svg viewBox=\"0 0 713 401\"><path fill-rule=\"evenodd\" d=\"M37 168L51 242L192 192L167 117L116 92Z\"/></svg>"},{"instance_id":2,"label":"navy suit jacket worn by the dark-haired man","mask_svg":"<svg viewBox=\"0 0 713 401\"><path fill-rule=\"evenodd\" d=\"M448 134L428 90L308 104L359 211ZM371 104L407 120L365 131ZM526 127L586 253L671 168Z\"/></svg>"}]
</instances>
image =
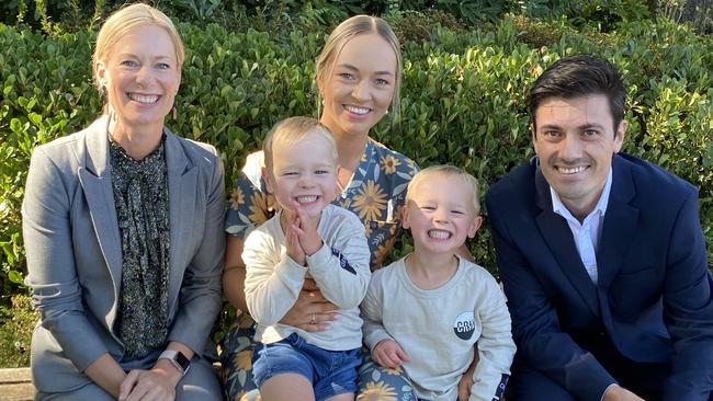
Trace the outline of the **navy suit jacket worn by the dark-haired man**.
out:
<instances>
[{"instance_id":1,"label":"navy suit jacket worn by the dark-haired man","mask_svg":"<svg viewBox=\"0 0 713 401\"><path fill-rule=\"evenodd\" d=\"M616 378L587 344L608 337L633 362L670 364L666 400L709 400L713 279L695 187L614 156L595 285L537 163L513 170L486 199L518 358L577 399L599 401Z\"/></svg>"}]
</instances>

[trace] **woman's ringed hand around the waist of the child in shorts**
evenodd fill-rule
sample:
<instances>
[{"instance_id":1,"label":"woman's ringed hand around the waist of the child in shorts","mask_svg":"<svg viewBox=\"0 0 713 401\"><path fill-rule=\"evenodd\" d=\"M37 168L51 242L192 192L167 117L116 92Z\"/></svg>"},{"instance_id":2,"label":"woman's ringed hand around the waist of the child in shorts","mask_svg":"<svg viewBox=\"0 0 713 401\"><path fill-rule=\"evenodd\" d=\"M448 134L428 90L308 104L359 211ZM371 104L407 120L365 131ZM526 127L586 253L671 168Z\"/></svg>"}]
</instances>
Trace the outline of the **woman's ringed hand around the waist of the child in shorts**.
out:
<instances>
[{"instance_id":1,"label":"woman's ringed hand around the waist of the child in shorts","mask_svg":"<svg viewBox=\"0 0 713 401\"><path fill-rule=\"evenodd\" d=\"M337 306L328 301L312 278L305 278L295 305L280 320L306 332L329 330L329 322L339 319Z\"/></svg>"}]
</instances>

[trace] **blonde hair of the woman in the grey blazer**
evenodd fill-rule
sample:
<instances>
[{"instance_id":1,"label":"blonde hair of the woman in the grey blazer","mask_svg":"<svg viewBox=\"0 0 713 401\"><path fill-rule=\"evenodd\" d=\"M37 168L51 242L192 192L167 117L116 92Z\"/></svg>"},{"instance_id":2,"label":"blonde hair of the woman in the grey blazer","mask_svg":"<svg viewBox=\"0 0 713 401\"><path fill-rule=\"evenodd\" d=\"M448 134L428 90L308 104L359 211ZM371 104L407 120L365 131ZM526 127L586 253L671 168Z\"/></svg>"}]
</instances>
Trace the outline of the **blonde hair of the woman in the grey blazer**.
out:
<instances>
[{"instance_id":1,"label":"blonde hair of the woman in the grey blazer","mask_svg":"<svg viewBox=\"0 0 713 401\"><path fill-rule=\"evenodd\" d=\"M136 3L126 5L113 13L104 22L102 28L99 31L99 35L97 36L97 47L94 48L92 67L94 73L94 83L100 91L102 91L102 84L99 77L97 76L97 66L99 62L106 61L112 51L112 48L118 41L129 34L133 30L145 25L156 25L166 30L169 37L171 38L171 42L173 43L178 69L179 71L181 70L185 54L183 51L183 43L181 42L181 37L176 30L176 25L173 25L173 22L171 22L171 19L148 4Z\"/></svg>"}]
</instances>

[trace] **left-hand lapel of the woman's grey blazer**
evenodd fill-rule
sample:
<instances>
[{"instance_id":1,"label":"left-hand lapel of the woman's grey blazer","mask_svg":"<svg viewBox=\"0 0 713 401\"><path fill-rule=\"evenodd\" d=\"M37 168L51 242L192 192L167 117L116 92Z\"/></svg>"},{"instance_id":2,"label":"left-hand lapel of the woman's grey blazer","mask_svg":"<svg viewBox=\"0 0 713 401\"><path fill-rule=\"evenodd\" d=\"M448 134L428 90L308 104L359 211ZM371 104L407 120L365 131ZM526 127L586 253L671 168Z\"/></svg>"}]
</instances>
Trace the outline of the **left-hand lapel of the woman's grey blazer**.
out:
<instances>
[{"instance_id":1,"label":"left-hand lapel of the woman's grey blazer","mask_svg":"<svg viewBox=\"0 0 713 401\"><path fill-rule=\"evenodd\" d=\"M109 326L116 316L118 294L122 283L122 247L118 237L118 222L114 207L111 169L109 168L109 141L106 139L106 117L102 117L87 128L87 156L79 168L79 182L84 192L87 205L97 239L113 279L114 298L112 312L106 317Z\"/></svg>"}]
</instances>

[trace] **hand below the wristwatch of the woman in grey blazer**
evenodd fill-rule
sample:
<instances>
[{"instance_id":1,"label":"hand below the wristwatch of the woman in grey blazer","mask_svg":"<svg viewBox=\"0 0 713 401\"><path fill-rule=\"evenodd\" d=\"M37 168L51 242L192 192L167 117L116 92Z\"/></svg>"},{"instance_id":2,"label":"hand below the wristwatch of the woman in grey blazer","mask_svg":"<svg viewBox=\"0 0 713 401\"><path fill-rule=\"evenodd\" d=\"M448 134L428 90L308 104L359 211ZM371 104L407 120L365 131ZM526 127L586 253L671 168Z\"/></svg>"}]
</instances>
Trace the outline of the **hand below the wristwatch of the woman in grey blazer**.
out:
<instances>
[{"instance_id":1,"label":"hand below the wristwatch of the woman in grey blazer","mask_svg":"<svg viewBox=\"0 0 713 401\"><path fill-rule=\"evenodd\" d=\"M173 401L181 375L167 359L159 359L150 370L134 369L120 387L120 401Z\"/></svg>"}]
</instances>

